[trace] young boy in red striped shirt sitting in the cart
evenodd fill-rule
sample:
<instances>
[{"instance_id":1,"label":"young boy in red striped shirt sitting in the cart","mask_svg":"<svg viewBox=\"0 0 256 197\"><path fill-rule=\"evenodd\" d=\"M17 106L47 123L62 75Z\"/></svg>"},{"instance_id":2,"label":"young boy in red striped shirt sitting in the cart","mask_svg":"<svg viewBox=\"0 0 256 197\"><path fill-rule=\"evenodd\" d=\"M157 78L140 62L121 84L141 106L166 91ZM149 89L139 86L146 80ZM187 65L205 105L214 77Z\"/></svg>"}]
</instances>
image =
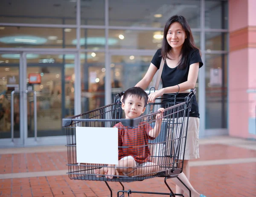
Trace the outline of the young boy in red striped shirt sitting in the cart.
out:
<instances>
[{"instance_id":1,"label":"young boy in red striped shirt sitting in the cart","mask_svg":"<svg viewBox=\"0 0 256 197\"><path fill-rule=\"evenodd\" d=\"M125 112L125 119L135 119L144 113L148 103L148 95L140 87L132 87L125 91L122 99L122 109ZM161 123L164 109L160 108L156 116L154 128L146 122L140 122L135 127L125 127L121 122L118 127L118 146L127 147L118 150L118 165L96 169L95 174L106 174L108 178L119 173L125 176L152 176L157 174L159 166L150 160L148 139L155 139L161 130ZM99 175L98 175L99 176Z\"/></svg>"}]
</instances>

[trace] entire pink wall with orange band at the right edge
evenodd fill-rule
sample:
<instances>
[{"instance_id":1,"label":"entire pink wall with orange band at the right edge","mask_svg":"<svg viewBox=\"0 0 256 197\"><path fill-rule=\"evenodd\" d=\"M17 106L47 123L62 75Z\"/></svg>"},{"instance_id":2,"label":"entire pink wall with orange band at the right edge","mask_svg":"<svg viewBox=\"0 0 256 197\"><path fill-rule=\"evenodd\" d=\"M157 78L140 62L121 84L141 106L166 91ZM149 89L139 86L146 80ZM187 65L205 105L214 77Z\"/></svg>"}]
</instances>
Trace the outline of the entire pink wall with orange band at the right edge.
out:
<instances>
[{"instance_id":1,"label":"entire pink wall with orange band at the right edge","mask_svg":"<svg viewBox=\"0 0 256 197\"><path fill-rule=\"evenodd\" d=\"M256 93L256 0L229 1L229 134L255 138L249 119L255 118Z\"/></svg>"}]
</instances>

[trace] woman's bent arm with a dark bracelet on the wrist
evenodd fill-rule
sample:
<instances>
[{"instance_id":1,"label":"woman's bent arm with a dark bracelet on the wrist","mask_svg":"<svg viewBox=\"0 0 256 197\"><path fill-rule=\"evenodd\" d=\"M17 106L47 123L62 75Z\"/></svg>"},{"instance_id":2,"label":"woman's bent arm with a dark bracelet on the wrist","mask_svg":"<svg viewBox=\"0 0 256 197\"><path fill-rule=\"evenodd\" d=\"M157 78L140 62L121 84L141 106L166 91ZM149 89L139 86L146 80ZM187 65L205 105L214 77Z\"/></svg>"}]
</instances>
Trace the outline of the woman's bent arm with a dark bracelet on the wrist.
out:
<instances>
[{"instance_id":1,"label":"woman's bent arm with a dark bracelet on the wrist","mask_svg":"<svg viewBox=\"0 0 256 197\"><path fill-rule=\"evenodd\" d=\"M177 85L162 88L155 93L151 93L148 96L148 101L154 102L157 97L162 96L163 94L166 94L166 93L176 93L178 91L184 91L184 90L195 88L196 80L198 78L198 72L199 72L199 63L191 64L189 67L188 80L181 84L178 84L180 87L180 90Z\"/></svg>"}]
</instances>

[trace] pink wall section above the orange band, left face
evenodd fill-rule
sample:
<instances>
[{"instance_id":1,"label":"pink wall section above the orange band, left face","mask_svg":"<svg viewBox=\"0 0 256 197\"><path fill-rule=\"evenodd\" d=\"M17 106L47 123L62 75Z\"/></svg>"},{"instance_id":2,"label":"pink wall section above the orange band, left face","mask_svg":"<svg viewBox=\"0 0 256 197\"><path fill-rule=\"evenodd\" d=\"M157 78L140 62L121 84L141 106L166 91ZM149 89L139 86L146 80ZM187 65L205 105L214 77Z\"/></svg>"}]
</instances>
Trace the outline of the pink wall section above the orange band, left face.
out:
<instances>
[{"instance_id":1,"label":"pink wall section above the orange band, left face","mask_svg":"<svg viewBox=\"0 0 256 197\"><path fill-rule=\"evenodd\" d=\"M229 31L233 32L248 26L248 0L230 0L229 8ZM251 0L255 1L255 0ZM255 11L254 11L255 12Z\"/></svg>"}]
</instances>

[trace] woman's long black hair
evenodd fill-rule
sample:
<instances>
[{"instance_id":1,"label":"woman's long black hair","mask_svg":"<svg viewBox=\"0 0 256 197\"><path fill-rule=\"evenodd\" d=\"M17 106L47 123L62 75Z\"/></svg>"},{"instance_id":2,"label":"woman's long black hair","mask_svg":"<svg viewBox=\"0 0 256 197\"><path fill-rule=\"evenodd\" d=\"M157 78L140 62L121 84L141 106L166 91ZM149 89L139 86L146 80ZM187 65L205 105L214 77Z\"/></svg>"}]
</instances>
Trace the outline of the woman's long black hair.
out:
<instances>
[{"instance_id":1,"label":"woman's long black hair","mask_svg":"<svg viewBox=\"0 0 256 197\"><path fill-rule=\"evenodd\" d=\"M167 58L171 59L169 57L168 53L170 52L172 47L167 42L166 36L167 36L170 25L175 22L180 23L180 25L183 27L183 29L186 33L186 39L181 48L181 58L178 63L178 66L177 66L178 69L184 69L186 67L186 62L188 59L189 52L191 52L191 50L193 50L193 49L198 49L195 45L195 41L194 41L194 38L193 38L193 35L191 32L191 29L189 27L189 23L185 17L175 15L175 16L170 17L166 21L166 25L165 25L164 32L163 32L163 45L161 48L161 55L164 60L166 60Z\"/></svg>"}]
</instances>

